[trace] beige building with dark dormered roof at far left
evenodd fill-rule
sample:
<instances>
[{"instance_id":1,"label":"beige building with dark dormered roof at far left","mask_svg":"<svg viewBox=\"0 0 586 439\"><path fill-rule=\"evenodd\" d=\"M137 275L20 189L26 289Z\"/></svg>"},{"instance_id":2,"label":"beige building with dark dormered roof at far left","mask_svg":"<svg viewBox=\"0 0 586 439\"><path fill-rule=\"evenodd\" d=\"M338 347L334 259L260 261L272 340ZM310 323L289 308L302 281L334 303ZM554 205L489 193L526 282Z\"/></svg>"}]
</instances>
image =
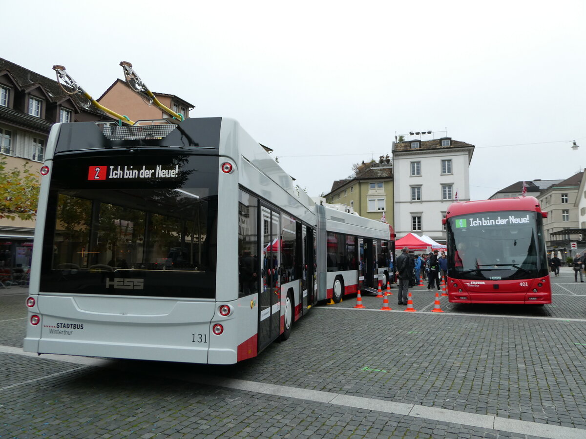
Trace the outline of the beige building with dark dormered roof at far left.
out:
<instances>
[{"instance_id":1,"label":"beige building with dark dormered roof at far left","mask_svg":"<svg viewBox=\"0 0 586 439\"><path fill-rule=\"evenodd\" d=\"M86 108L80 95L63 91L57 81L0 58L0 159L6 171L23 170L40 179L51 126L56 122L111 120ZM2 200L4 201L4 200ZM35 221L0 218L0 266L27 267L33 247Z\"/></svg>"}]
</instances>

